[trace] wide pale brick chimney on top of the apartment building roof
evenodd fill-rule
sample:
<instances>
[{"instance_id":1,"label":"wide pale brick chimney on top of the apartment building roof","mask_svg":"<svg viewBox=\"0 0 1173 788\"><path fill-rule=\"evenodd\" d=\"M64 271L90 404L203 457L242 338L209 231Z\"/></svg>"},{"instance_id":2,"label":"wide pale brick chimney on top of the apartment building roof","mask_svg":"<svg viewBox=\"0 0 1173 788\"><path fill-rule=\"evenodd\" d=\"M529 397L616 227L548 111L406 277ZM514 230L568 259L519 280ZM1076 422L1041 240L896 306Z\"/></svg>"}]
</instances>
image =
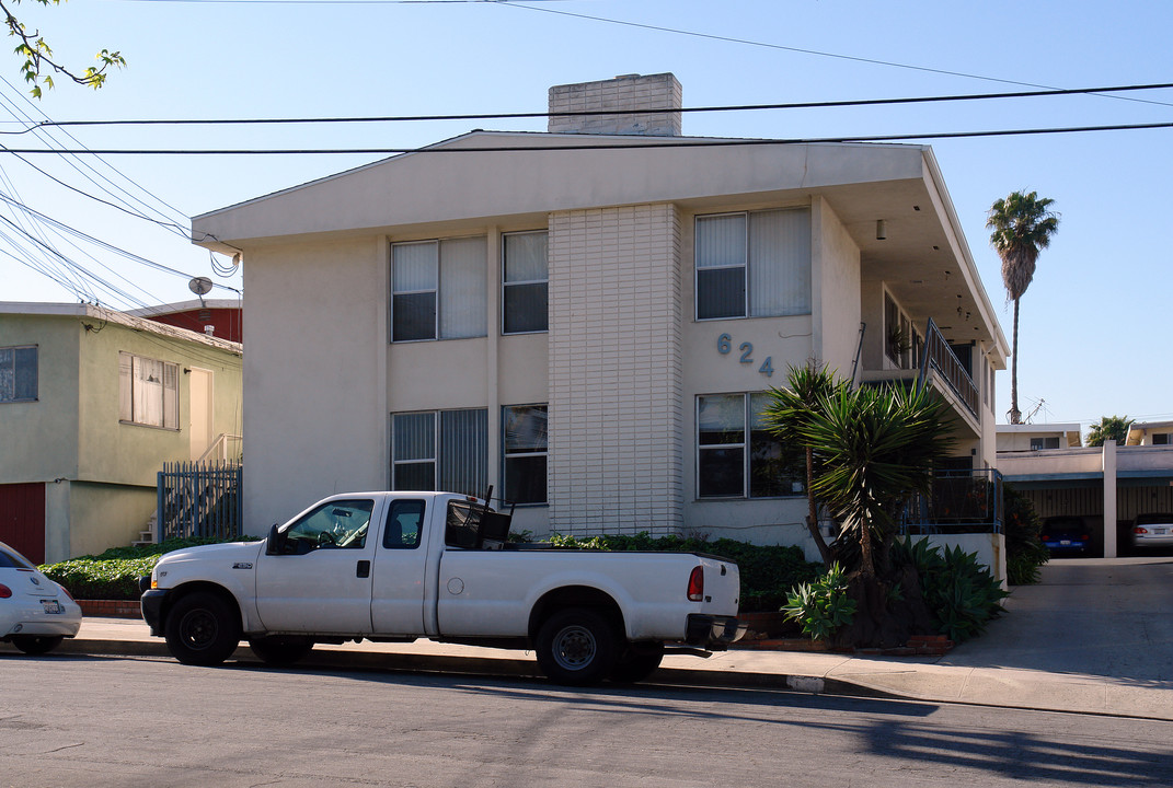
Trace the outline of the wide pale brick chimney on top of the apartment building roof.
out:
<instances>
[{"instance_id":1,"label":"wide pale brick chimney on top of the apartment building roof","mask_svg":"<svg viewBox=\"0 0 1173 788\"><path fill-rule=\"evenodd\" d=\"M683 91L672 74L624 74L613 80L558 84L550 88L550 113L642 110L617 115L571 115L549 118L551 134L643 134L680 136ZM651 111L662 110L662 111Z\"/></svg>"}]
</instances>

